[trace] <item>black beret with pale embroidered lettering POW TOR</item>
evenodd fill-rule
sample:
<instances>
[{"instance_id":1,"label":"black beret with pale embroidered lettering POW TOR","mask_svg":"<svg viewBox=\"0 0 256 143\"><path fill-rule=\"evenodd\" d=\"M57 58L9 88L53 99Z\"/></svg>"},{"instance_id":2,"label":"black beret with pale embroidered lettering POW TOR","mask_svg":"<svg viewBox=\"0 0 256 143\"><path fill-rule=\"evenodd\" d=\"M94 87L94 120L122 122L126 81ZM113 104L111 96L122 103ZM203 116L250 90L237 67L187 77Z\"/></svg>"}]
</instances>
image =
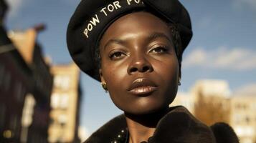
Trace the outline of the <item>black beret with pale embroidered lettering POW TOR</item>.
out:
<instances>
[{"instance_id":1,"label":"black beret with pale embroidered lettering POW TOR","mask_svg":"<svg viewBox=\"0 0 256 143\"><path fill-rule=\"evenodd\" d=\"M113 21L140 10L152 11L176 24L181 36L180 51L186 49L192 37L191 21L178 0L82 0L67 27L67 47L82 71L100 81L95 49L101 36Z\"/></svg>"}]
</instances>

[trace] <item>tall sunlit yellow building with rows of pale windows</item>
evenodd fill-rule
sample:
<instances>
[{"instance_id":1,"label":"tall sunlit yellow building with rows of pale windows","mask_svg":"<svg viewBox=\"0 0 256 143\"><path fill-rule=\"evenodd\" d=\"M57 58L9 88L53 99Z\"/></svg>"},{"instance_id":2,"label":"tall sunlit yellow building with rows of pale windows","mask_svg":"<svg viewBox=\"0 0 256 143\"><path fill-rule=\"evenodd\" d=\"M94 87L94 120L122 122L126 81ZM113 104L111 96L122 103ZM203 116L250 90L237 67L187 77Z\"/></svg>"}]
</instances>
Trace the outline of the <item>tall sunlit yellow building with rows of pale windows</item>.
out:
<instances>
[{"instance_id":1,"label":"tall sunlit yellow building with rows of pale windows","mask_svg":"<svg viewBox=\"0 0 256 143\"><path fill-rule=\"evenodd\" d=\"M80 69L75 65L52 66L52 91L49 142L80 142L78 125L80 116Z\"/></svg>"}]
</instances>

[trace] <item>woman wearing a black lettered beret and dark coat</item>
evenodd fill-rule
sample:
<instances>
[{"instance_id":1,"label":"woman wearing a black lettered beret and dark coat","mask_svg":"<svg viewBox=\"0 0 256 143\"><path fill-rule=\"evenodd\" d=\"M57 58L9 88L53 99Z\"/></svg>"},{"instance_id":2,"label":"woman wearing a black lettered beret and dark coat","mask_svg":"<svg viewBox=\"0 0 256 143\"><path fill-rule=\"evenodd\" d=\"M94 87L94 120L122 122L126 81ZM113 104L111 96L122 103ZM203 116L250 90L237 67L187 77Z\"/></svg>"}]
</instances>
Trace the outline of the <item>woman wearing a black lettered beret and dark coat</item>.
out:
<instances>
[{"instance_id":1,"label":"woman wearing a black lettered beret and dark coat","mask_svg":"<svg viewBox=\"0 0 256 143\"><path fill-rule=\"evenodd\" d=\"M124 112L85 142L238 142L227 124L207 127L169 108L191 36L177 0L81 1L67 29L70 54Z\"/></svg>"}]
</instances>

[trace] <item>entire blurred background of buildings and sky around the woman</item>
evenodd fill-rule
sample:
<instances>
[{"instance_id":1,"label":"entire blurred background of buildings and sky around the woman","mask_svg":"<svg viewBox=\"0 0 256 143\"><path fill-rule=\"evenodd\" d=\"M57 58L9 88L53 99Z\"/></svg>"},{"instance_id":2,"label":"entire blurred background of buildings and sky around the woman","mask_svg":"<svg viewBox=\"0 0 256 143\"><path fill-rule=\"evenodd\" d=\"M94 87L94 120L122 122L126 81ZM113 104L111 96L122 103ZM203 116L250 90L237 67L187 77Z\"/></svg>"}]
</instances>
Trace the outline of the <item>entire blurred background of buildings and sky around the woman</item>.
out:
<instances>
[{"instance_id":1,"label":"entire blurred background of buildings and sky around the woman","mask_svg":"<svg viewBox=\"0 0 256 143\"><path fill-rule=\"evenodd\" d=\"M80 0L0 0L0 142L82 142L122 114L72 62L65 36ZM175 101L256 142L256 1L181 0L194 37Z\"/></svg>"}]
</instances>

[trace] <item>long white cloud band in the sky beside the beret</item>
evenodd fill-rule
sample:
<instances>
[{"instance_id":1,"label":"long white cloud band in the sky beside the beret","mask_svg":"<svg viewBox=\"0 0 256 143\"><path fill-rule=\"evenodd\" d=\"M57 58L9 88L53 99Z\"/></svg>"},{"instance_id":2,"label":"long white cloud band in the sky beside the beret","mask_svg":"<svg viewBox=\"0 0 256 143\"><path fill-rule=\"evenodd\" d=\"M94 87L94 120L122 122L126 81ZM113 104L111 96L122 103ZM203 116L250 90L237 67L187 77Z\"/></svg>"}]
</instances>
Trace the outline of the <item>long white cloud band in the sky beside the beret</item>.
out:
<instances>
[{"instance_id":1,"label":"long white cloud band in the sky beside the beret","mask_svg":"<svg viewBox=\"0 0 256 143\"><path fill-rule=\"evenodd\" d=\"M220 46L217 49L196 48L184 57L184 68L199 66L214 69L256 69L256 51L245 48Z\"/></svg>"}]
</instances>

